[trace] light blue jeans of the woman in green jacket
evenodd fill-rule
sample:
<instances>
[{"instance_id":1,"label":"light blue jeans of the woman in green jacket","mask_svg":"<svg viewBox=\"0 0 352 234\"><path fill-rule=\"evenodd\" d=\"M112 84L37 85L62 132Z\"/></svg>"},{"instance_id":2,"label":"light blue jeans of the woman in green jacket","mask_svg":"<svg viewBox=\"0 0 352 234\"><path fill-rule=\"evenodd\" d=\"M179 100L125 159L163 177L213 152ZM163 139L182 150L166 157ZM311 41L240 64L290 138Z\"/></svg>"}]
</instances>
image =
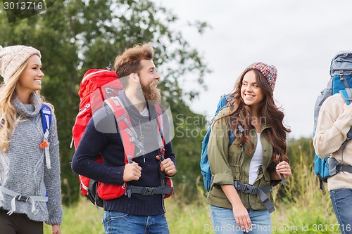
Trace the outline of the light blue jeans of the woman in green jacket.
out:
<instances>
[{"instance_id":1,"label":"light blue jeans of the woman in green jacket","mask_svg":"<svg viewBox=\"0 0 352 234\"><path fill-rule=\"evenodd\" d=\"M252 223L251 234L267 234L271 233L271 217L270 213L265 210L248 210L249 218ZM234 220L232 209L222 207L214 207L210 205L210 215L213 221L215 234L235 234L245 233L241 227L237 226Z\"/></svg>"}]
</instances>

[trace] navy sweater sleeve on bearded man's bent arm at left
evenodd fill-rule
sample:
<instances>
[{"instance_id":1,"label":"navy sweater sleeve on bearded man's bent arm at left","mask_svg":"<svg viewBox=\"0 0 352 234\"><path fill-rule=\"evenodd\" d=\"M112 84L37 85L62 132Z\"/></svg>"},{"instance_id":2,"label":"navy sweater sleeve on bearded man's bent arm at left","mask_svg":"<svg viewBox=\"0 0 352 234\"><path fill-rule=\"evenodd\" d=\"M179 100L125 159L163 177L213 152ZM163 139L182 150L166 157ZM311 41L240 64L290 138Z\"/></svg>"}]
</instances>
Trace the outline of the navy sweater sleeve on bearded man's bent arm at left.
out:
<instances>
[{"instance_id":1,"label":"navy sweater sleeve on bearded man's bent arm at left","mask_svg":"<svg viewBox=\"0 0 352 234\"><path fill-rule=\"evenodd\" d=\"M114 138L114 135L120 136L117 134L115 117L108 115L108 111L108 108L101 108L89 120L75 155L73 155L71 168L76 174L92 178L95 181L122 184L125 165L110 167L96 162L99 152L102 152L108 142Z\"/></svg>"}]
</instances>

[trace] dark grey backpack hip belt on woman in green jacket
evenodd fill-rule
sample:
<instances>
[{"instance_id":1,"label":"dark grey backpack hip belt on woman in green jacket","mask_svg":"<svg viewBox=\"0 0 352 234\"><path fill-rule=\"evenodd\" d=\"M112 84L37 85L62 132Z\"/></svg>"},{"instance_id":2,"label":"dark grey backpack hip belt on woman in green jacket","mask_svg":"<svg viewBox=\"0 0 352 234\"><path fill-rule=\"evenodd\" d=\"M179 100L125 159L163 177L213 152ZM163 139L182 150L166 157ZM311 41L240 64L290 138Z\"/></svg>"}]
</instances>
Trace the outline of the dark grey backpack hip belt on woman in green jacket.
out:
<instances>
[{"instance_id":1,"label":"dark grey backpack hip belt on woman in green jacket","mask_svg":"<svg viewBox=\"0 0 352 234\"><path fill-rule=\"evenodd\" d=\"M272 206L269 197L265 194L265 193L270 193L270 186L255 187L246 183L234 181L234 188L236 188L236 190L242 191L243 193L257 195L265 205L265 208L268 209L269 213L272 213L275 211L275 208Z\"/></svg>"}]
</instances>

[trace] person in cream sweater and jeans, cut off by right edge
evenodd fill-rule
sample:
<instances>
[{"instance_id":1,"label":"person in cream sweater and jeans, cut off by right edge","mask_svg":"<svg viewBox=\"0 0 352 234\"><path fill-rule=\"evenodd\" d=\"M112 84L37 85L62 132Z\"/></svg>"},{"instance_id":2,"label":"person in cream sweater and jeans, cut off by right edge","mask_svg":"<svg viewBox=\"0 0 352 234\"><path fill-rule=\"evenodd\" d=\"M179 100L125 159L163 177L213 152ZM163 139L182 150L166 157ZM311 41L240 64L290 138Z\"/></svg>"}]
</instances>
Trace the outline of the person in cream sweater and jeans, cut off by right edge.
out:
<instances>
[{"instance_id":1,"label":"person in cream sweater and jeans, cut off by right edge","mask_svg":"<svg viewBox=\"0 0 352 234\"><path fill-rule=\"evenodd\" d=\"M342 143L352 126L352 105L346 105L340 93L329 96L320 108L317 129L313 138L319 157L327 155L345 165L352 165L352 143L348 141L342 160ZM339 171L327 178L327 189L342 234L352 233L352 174Z\"/></svg>"}]
</instances>

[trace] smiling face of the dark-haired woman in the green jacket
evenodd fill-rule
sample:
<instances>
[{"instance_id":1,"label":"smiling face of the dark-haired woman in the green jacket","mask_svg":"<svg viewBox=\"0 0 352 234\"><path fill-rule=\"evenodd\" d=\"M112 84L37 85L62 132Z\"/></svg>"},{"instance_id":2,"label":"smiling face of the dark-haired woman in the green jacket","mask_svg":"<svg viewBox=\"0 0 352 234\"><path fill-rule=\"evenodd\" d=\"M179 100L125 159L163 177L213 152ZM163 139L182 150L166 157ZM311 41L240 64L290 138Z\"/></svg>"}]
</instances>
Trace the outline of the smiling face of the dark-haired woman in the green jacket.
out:
<instances>
[{"instance_id":1,"label":"smiling face of the dark-haired woman in the green jacket","mask_svg":"<svg viewBox=\"0 0 352 234\"><path fill-rule=\"evenodd\" d=\"M251 106L252 110L253 108L258 110L258 106L264 98L264 93L253 70L249 70L244 74L241 84L241 97L246 105Z\"/></svg>"}]
</instances>

